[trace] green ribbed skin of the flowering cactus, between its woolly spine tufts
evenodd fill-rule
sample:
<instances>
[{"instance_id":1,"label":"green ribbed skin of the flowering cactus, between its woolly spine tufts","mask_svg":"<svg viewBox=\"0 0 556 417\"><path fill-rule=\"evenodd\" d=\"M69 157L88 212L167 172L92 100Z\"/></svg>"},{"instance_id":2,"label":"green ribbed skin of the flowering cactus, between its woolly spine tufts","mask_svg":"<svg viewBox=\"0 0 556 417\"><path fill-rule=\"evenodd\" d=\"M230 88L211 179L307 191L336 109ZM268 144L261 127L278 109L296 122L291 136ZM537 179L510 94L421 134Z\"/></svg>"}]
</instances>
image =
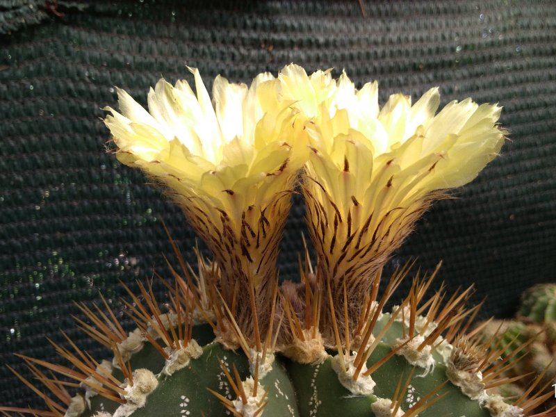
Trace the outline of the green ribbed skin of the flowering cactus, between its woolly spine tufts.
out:
<instances>
[{"instance_id":1,"label":"green ribbed skin of the flowering cactus, between its woolly spine tufts","mask_svg":"<svg viewBox=\"0 0 556 417\"><path fill-rule=\"evenodd\" d=\"M379 334L389 318L389 314L384 314L378 320L373 333ZM204 343L214 337L207 325L193 327L193 334L197 336L197 340ZM400 322L394 322L384 334L383 340L377 344L366 366L373 366L386 357L392 351L391 343L400 337L402 337L402 325ZM406 391L402 392L400 410L411 409L420 398L445 383L432 397L434 399L441 396L441 400L421 411L420 416L452 413L466 417L491 416L480 402L471 400L461 392L459 387L447 381L446 367L439 353L434 354L437 363L428 372L423 368L414 369L414 366L411 366L404 357L394 355L371 375L376 386L373 393L368 395L356 395L341 384L332 366L336 352L329 351L329 353L322 363L315 364L297 363L278 354L272 362L271 370L260 379L263 391L268 390L262 415L326 417L345 414L354 417L374 415L381 417L382 414L373 412L373 404L380 398L394 398L398 381L403 379L403 382L406 382L406 378L413 372ZM229 411L217 396L209 391L210 389L229 400L236 400L234 390L224 375L221 363L231 374L235 367L243 381L253 376L250 372L250 362L243 352L226 350L222 345L214 342L204 344L199 357L190 359L186 367L169 376L161 373L165 361L148 342L139 352L131 356L130 363L132 369L147 368L157 375L158 379L158 386L152 393L148 393L145 405L135 409L131 414L134 417L159 415L161 410L164 411L165 416L227 416ZM112 375L119 380L124 379L122 371L118 368L113 369ZM117 411L119 407L120 411ZM108 414L101 414L101 412ZM90 398L90 407L87 407L82 417L105 415L124 416L126 414L117 402L95 395Z\"/></svg>"}]
</instances>

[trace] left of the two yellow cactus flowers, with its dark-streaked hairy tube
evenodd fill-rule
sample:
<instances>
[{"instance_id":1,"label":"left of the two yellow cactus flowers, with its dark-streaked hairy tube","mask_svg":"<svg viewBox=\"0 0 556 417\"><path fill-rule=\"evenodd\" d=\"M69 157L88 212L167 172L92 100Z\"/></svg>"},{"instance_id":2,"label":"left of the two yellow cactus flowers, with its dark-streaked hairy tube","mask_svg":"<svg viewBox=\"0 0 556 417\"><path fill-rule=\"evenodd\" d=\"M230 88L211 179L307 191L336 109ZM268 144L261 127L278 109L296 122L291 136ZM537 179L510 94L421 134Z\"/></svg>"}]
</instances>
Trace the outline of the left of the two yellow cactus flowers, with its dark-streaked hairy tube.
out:
<instances>
[{"instance_id":1,"label":"left of the two yellow cactus flowers, with its dark-streaked hairy tube","mask_svg":"<svg viewBox=\"0 0 556 417\"><path fill-rule=\"evenodd\" d=\"M105 123L120 161L160 183L211 249L218 273L208 292L222 297L231 310L224 316L252 340L254 326L268 327L277 248L304 163L293 149L303 142L302 123L287 102L266 103L275 99L270 74L250 88L218 76L211 103L199 72L191 72L196 96L186 81L161 80L147 112L118 90L122 114L107 108ZM220 336L234 345L231 325L222 322Z\"/></svg>"}]
</instances>

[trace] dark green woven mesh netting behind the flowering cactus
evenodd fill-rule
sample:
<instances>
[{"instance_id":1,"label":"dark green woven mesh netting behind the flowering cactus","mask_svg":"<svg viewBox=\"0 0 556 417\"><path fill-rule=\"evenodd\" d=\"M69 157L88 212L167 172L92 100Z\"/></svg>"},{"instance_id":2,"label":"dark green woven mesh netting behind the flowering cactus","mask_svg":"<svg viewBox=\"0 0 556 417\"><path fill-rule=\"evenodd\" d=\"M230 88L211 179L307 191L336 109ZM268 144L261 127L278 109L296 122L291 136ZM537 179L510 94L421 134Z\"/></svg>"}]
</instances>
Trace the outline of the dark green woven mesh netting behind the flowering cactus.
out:
<instances>
[{"instance_id":1,"label":"dark green woven mesh netting behind the flowering cactus","mask_svg":"<svg viewBox=\"0 0 556 417\"><path fill-rule=\"evenodd\" d=\"M556 5L553 1L0 0L0 363L12 352L54 359L44 336L74 331L76 300L118 279L165 272L165 221L183 249L194 236L140 172L105 154L101 107L113 85L145 103L149 85L223 74L250 81L292 61L343 68L414 99L440 85L443 104L499 101L511 141L502 156L439 202L389 265L444 260L450 291L475 282L484 316L509 316L524 288L556 270ZM480 6L479 6L480 5ZM51 7L49 7L51 6ZM56 14L63 13L63 17ZM304 210L291 213L281 276L295 279ZM161 288L158 288L162 293ZM0 404L33 395L0 367Z\"/></svg>"}]
</instances>

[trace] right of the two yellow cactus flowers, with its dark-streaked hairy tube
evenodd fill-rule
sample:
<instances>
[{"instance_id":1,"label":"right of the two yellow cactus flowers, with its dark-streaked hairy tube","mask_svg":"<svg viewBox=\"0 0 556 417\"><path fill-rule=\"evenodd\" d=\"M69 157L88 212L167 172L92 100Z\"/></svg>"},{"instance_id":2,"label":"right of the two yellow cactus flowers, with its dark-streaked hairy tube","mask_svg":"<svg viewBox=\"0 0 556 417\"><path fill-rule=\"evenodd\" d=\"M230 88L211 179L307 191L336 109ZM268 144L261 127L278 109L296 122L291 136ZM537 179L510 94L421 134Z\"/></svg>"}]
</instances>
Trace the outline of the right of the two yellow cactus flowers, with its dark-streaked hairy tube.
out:
<instances>
[{"instance_id":1,"label":"right of the two yellow cactus flowers, with its dark-streaked hairy tube","mask_svg":"<svg viewBox=\"0 0 556 417\"><path fill-rule=\"evenodd\" d=\"M498 154L507 133L496 125L501 108L465 99L435 115L438 88L413 105L411 97L392 95L379 108L376 82L356 90L345 73L336 81L295 65L279 81L282 97L297 97L308 118L302 189L318 275L334 306L347 291L353 325L375 275L431 202L473 180ZM329 308L323 313L329 322Z\"/></svg>"}]
</instances>

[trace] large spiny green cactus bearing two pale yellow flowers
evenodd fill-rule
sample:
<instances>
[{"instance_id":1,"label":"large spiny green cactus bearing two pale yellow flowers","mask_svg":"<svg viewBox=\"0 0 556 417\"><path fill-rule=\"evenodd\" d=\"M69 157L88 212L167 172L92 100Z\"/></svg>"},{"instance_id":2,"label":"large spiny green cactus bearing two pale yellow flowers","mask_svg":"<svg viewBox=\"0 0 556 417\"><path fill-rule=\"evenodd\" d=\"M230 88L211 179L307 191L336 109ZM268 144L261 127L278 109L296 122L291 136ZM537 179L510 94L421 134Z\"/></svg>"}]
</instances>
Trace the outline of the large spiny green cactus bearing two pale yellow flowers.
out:
<instances>
[{"instance_id":1,"label":"large spiny green cactus bearing two pale yellow flowers","mask_svg":"<svg viewBox=\"0 0 556 417\"><path fill-rule=\"evenodd\" d=\"M219 76L211 104L191 71L196 96L185 81L161 80L147 113L119 90L122 114L107 108L105 123L120 161L163 187L213 259L197 251L193 272L172 241L179 268L170 267L171 281L160 278L167 300L156 300L152 283L138 283L138 293L126 287L132 332L104 298L104 308L79 304L87 318L79 327L113 358L95 361L69 337L69 347L54 347L71 367L22 357L51 395L15 374L47 410L0 411L510 417L529 415L551 395L541 378L528 399L511 404L487 393L507 382L507 366L494 360L500 351L487 349L490 340L467 333L480 307L466 308L471 287L446 302L443 288L427 297L436 268L384 311L410 275L407 264L379 295L384 263L420 215L500 150L500 108L466 99L435 116L432 89L413 106L393 95L381 110L376 83L357 91L345 74L307 76L296 65L277 79L260 74L250 88ZM278 243L297 185L316 265L305 247L299 282L279 284ZM67 384L84 393L72 397Z\"/></svg>"}]
</instances>

